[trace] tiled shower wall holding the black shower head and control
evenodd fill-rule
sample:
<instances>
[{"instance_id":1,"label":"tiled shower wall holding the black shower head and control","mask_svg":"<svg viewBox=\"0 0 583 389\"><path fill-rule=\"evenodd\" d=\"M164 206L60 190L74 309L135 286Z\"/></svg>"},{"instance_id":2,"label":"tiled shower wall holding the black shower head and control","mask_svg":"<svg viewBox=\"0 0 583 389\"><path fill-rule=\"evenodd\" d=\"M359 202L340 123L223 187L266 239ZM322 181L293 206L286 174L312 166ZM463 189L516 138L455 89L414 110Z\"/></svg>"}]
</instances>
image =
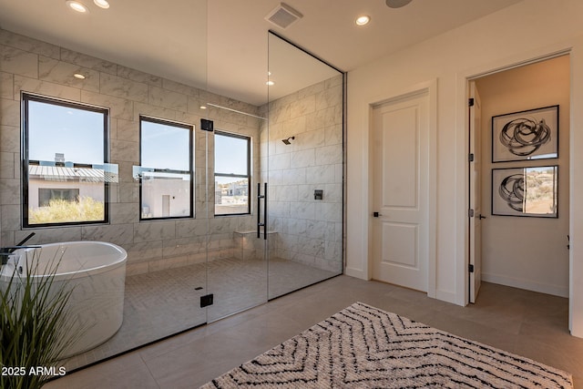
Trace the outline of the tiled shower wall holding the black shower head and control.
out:
<instances>
[{"instance_id":1,"label":"tiled shower wall holding the black shower head and control","mask_svg":"<svg viewBox=\"0 0 583 389\"><path fill-rule=\"evenodd\" d=\"M271 102L269 119L269 136L261 127L261 150L269 148L261 176L269 182L278 256L342 271L343 76ZM289 137L285 145L281 139ZM314 200L315 189L323 190L322 200Z\"/></svg>"}]
</instances>

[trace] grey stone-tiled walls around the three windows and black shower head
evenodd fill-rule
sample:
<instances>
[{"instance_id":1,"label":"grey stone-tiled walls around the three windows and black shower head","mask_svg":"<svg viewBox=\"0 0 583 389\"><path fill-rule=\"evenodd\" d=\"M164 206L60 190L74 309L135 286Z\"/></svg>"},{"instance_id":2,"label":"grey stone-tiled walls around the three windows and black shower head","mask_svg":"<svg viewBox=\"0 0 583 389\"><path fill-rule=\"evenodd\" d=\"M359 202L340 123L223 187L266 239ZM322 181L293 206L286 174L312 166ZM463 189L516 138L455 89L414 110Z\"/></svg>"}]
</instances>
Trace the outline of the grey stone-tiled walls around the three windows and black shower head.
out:
<instances>
[{"instance_id":1,"label":"grey stone-tiled walls around the three windows and black shower head","mask_svg":"<svg viewBox=\"0 0 583 389\"><path fill-rule=\"evenodd\" d=\"M77 72L87 78L72 77ZM233 231L253 230L256 220L212 217L214 181L207 189L206 178L213 173L213 138L199 130L200 118L210 118L215 129L253 139L251 188L257 188L260 177L270 182L270 230L278 232L278 256L342 271L342 81L342 76L334 77L271 102L268 131L265 120L199 108L201 102L211 102L265 117L267 106L251 106L0 29L0 243L15 244L30 233L21 229L20 202L20 94L26 91L108 107L110 162L119 168L119 183L110 187L109 224L37 228L30 243L110 241L128 251L128 274L206 261L207 248L210 260L233 256L239 248ZM132 178L132 167L139 163L139 115L195 126L195 219L139 221L139 186ZM281 142L291 136L292 145ZM268 150L269 159L261 158ZM313 199L314 189L323 190L323 200Z\"/></svg>"}]
</instances>

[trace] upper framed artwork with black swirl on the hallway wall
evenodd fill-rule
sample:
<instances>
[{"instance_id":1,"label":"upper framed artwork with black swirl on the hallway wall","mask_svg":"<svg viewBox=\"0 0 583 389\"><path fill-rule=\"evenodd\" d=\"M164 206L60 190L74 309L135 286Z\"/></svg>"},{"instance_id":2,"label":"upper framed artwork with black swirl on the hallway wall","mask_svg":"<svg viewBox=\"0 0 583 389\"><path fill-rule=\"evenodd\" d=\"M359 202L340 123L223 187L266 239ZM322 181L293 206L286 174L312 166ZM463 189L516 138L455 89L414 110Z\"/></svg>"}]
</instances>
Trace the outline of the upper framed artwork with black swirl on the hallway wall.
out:
<instances>
[{"instance_id":1,"label":"upper framed artwork with black swirl on the hallway wall","mask_svg":"<svg viewBox=\"0 0 583 389\"><path fill-rule=\"evenodd\" d=\"M492 162L558 158L558 106L492 117Z\"/></svg>"}]
</instances>

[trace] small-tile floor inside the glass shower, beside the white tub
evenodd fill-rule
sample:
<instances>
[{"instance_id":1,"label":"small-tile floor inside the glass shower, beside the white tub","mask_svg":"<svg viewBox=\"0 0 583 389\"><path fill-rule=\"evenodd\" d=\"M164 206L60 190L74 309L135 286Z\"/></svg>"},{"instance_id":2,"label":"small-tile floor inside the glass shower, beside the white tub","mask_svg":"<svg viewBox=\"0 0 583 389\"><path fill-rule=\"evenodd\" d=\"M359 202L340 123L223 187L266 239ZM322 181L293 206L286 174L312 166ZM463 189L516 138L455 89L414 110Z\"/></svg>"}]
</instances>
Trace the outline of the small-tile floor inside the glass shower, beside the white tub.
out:
<instances>
[{"instance_id":1,"label":"small-tile floor inside the glass shower, beside the white tub","mask_svg":"<svg viewBox=\"0 0 583 389\"><path fill-rule=\"evenodd\" d=\"M263 260L223 258L132 275L126 280L124 321L118 333L63 365L69 371L77 369L260 305L267 302L268 293L271 299L334 275L278 258L270 259L269 269ZM214 303L205 310L200 308L200 296L207 293L214 295Z\"/></svg>"}]
</instances>

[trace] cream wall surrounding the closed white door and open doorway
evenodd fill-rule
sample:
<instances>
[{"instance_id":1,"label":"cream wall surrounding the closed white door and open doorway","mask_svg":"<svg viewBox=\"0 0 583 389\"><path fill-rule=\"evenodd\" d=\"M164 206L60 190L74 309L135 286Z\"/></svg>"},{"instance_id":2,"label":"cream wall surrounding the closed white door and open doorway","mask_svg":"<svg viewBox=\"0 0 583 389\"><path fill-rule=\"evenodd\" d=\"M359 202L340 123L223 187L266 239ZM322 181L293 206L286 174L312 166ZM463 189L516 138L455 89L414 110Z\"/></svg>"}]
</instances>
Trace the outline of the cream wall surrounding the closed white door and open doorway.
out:
<instances>
[{"instance_id":1,"label":"cream wall surrounding the closed white door and open doorway","mask_svg":"<svg viewBox=\"0 0 583 389\"><path fill-rule=\"evenodd\" d=\"M369 104L437 79L436 263L437 298L466 302L467 131L466 79L561 50L571 54L571 128L583 124L583 2L525 0L348 75L347 266L369 277ZM570 149L583 148L571 132ZM583 155L571 153L571 199L583 190ZM580 177L579 179L577 179ZM583 204L570 210L572 333L583 336ZM580 290L580 291L579 291Z\"/></svg>"}]
</instances>

